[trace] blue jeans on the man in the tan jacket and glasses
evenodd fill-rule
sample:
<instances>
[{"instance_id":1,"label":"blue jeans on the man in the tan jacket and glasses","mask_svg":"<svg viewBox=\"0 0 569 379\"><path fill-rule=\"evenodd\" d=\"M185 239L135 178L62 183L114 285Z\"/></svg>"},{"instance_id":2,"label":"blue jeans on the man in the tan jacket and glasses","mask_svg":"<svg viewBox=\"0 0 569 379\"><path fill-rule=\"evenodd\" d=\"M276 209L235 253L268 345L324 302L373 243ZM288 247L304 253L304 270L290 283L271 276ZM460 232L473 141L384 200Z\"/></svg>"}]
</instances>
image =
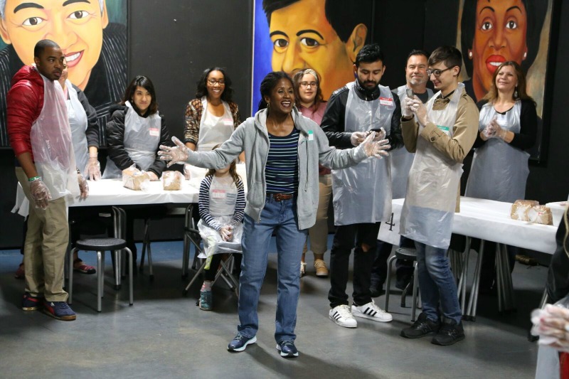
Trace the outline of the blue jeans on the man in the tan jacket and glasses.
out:
<instances>
[{"instance_id":1,"label":"blue jeans on the man in the tan jacket and glasses","mask_svg":"<svg viewBox=\"0 0 569 379\"><path fill-rule=\"evenodd\" d=\"M460 323L462 311L457 295L457 284L450 272L447 250L415 241L421 292L422 311L427 318L439 319L439 302L447 319Z\"/></svg>"}]
</instances>

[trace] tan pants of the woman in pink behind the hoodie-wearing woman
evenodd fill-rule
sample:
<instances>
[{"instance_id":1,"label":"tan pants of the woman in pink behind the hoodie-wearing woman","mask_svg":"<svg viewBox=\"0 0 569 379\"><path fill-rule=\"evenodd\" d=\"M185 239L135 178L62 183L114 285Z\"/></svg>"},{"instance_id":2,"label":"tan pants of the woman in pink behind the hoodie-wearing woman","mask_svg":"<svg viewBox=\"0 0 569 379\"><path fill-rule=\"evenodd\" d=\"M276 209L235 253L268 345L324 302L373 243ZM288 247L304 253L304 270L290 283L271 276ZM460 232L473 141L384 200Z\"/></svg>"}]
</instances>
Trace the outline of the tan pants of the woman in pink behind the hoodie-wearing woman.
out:
<instances>
[{"instance_id":1,"label":"tan pants of the woman in pink behind the hoodie-wearing woman","mask_svg":"<svg viewBox=\"0 0 569 379\"><path fill-rule=\"evenodd\" d=\"M314 254L324 254L328 250L328 206L332 196L331 174L319 176L319 193L316 223L308 230L310 250ZM304 252L307 252L306 244L304 244Z\"/></svg>"}]
</instances>

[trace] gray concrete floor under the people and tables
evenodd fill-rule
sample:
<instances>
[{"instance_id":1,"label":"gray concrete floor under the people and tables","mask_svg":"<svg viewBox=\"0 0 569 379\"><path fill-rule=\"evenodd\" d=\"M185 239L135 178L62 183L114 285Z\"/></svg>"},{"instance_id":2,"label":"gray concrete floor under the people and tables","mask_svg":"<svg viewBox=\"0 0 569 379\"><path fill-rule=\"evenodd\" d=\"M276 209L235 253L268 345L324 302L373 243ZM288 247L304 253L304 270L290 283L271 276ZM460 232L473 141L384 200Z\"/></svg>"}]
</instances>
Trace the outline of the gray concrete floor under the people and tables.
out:
<instances>
[{"instance_id":1,"label":"gray concrete floor under the people and tables","mask_svg":"<svg viewBox=\"0 0 569 379\"><path fill-rule=\"evenodd\" d=\"M329 279L302 278L297 318L299 358L285 360L275 349L276 255L270 255L259 304L257 343L228 353L238 324L237 298L223 283L213 288L214 310L196 306L201 280L182 296L181 242L153 242L154 282L148 270L134 279L134 306L126 283L113 289L107 264L105 298L97 313L95 275L75 274L76 321L57 321L20 308L23 281L13 273L21 255L0 251L0 377L33 378L533 378L536 343L526 339L529 313L543 292L545 267L516 264L518 310L498 314L495 297L481 297L476 322L464 322L466 339L435 346L427 338L399 336L410 324L393 287L393 322L358 319L357 329L328 318ZM139 249L139 252L141 250ZM272 251L275 251L273 249ZM83 260L95 264L93 253ZM107 253L107 257L108 257ZM475 257L476 255L473 254ZM326 253L326 261L329 252ZM110 259L107 258L107 262ZM470 267L474 267L474 261ZM392 281L393 283L394 281ZM348 293L351 293L351 283ZM383 307L385 296L376 299ZM408 298L410 305L410 297Z\"/></svg>"}]
</instances>

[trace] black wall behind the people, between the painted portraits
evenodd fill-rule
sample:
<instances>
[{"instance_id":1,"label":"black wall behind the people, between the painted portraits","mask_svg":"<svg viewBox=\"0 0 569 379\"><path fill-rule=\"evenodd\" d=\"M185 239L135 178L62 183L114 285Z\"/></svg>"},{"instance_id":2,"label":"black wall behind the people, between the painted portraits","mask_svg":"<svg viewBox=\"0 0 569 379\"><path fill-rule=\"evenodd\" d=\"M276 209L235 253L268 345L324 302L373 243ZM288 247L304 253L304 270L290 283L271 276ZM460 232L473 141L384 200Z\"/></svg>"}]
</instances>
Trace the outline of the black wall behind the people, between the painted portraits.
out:
<instances>
[{"instance_id":1,"label":"black wall behind the people, between the painted portraits","mask_svg":"<svg viewBox=\"0 0 569 379\"><path fill-rule=\"evenodd\" d=\"M546 203L567 198L569 159L569 3L560 3L560 30L553 67L553 102L546 164L531 166L527 197ZM564 3L564 4L561 4ZM382 84L405 82L407 53L433 50L456 39L457 1L376 0L374 41L385 49L388 70ZM434 21L434 22L433 22ZM235 100L246 116L250 109L252 0L137 0L129 6L129 78L148 75L156 86L159 109L171 134L181 137L184 110L196 91L201 71L211 65L228 69ZM105 151L102 151L102 157ZM21 217L10 213L16 178L14 155L0 150L0 248L21 245ZM165 224L164 226L169 225ZM152 237L179 237L171 228L153 227Z\"/></svg>"}]
</instances>

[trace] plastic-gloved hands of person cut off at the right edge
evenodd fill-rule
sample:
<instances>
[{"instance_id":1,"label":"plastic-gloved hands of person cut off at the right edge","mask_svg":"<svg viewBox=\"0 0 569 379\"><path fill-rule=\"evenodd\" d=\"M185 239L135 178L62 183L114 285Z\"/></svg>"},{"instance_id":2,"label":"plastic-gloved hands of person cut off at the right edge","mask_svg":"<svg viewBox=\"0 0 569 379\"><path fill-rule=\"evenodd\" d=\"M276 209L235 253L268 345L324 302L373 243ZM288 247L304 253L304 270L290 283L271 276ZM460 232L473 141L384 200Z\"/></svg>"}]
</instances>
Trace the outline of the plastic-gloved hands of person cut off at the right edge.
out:
<instances>
[{"instance_id":1,"label":"plastic-gloved hands of person cut off at the right edge","mask_svg":"<svg viewBox=\"0 0 569 379\"><path fill-rule=\"evenodd\" d=\"M541 345L569 352L569 296L531 312L531 333Z\"/></svg>"}]
</instances>

